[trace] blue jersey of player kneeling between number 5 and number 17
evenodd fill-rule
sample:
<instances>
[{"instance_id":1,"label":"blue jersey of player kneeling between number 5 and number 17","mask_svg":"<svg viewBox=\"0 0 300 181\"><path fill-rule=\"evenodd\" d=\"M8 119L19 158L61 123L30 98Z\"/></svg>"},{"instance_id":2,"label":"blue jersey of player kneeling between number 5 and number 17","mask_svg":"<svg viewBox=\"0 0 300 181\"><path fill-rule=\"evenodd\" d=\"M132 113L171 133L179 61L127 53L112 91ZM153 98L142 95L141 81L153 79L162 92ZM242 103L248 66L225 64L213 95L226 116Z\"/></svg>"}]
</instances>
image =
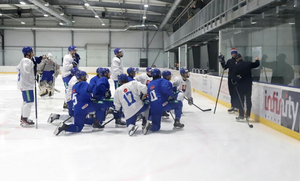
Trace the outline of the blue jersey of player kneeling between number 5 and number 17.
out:
<instances>
[{"instance_id":1,"label":"blue jersey of player kneeling between number 5 and number 17","mask_svg":"<svg viewBox=\"0 0 300 181\"><path fill-rule=\"evenodd\" d=\"M101 77L97 80L96 85L93 89L93 96L97 100L105 99L105 93L107 89L110 89L110 83L106 77Z\"/></svg>"}]
</instances>

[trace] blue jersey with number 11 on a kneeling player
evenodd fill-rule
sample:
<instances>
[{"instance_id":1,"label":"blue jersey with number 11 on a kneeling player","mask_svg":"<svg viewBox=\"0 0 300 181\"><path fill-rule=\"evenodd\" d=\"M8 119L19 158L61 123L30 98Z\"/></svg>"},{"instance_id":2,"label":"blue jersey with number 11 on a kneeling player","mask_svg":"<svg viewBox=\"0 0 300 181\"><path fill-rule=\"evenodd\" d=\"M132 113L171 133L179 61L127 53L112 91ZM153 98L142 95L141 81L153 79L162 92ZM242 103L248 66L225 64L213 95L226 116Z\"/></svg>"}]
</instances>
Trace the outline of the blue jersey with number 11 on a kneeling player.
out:
<instances>
[{"instance_id":1,"label":"blue jersey with number 11 on a kneeling player","mask_svg":"<svg viewBox=\"0 0 300 181\"><path fill-rule=\"evenodd\" d=\"M166 79L152 80L149 82L147 89L150 103L166 102L169 96L174 96L172 83Z\"/></svg>"}]
</instances>

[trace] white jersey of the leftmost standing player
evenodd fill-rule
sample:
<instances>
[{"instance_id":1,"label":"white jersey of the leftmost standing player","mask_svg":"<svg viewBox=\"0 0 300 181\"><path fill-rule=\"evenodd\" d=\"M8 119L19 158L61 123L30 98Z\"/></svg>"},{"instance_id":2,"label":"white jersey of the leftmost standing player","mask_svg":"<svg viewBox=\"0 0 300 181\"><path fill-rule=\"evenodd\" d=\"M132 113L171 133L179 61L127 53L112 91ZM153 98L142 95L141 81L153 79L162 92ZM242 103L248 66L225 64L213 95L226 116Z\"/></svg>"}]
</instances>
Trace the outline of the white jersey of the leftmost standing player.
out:
<instances>
[{"instance_id":1,"label":"white jersey of the leftmost standing player","mask_svg":"<svg viewBox=\"0 0 300 181\"><path fill-rule=\"evenodd\" d=\"M23 58L16 67L18 72L18 90L33 90L35 86L35 76L33 73L33 62L29 58Z\"/></svg>"}]
</instances>

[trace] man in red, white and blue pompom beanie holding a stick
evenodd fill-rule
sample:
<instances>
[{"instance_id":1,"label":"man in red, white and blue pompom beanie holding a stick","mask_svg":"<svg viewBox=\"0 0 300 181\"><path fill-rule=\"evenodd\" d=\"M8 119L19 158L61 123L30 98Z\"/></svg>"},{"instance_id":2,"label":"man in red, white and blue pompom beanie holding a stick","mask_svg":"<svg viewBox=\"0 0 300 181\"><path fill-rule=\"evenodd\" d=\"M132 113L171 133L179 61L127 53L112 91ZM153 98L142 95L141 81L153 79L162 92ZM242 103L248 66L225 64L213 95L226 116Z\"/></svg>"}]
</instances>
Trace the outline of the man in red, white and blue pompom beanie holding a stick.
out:
<instances>
[{"instance_id":1,"label":"man in red, white and blue pompom beanie holding a stick","mask_svg":"<svg viewBox=\"0 0 300 181\"><path fill-rule=\"evenodd\" d=\"M230 100L231 108L228 109L228 113L232 114L232 113L235 113L238 111L238 100L235 100L236 89L235 89L234 85L231 83L233 67L237 63L235 61L234 57L238 52L236 51L235 48L232 48L230 53L231 53L232 57L227 60L226 64L225 64L225 60L224 60L224 55L220 55L219 59L220 59L222 68L224 70L228 69L228 90L229 90L229 95L230 95L230 99L231 99Z\"/></svg>"}]
</instances>

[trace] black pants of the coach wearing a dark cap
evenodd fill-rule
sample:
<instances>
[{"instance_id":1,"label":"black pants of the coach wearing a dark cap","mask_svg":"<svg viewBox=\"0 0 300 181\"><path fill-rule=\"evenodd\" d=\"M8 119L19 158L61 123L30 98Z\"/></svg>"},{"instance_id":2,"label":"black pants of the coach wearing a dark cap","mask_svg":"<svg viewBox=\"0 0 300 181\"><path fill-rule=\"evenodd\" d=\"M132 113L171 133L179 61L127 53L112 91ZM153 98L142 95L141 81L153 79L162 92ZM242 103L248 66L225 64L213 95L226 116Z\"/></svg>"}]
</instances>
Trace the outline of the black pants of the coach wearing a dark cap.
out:
<instances>
[{"instance_id":1,"label":"black pants of the coach wearing a dark cap","mask_svg":"<svg viewBox=\"0 0 300 181\"><path fill-rule=\"evenodd\" d=\"M251 114L251 108L252 108L252 102L251 102L251 95L252 95L252 85L244 86L244 85L237 85L238 93L241 97L241 101L238 98L238 95L236 95L236 99L238 100L238 112L240 116L244 116L244 110L242 105L244 106L245 98L246 98L246 116L250 116Z\"/></svg>"}]
</instances>

